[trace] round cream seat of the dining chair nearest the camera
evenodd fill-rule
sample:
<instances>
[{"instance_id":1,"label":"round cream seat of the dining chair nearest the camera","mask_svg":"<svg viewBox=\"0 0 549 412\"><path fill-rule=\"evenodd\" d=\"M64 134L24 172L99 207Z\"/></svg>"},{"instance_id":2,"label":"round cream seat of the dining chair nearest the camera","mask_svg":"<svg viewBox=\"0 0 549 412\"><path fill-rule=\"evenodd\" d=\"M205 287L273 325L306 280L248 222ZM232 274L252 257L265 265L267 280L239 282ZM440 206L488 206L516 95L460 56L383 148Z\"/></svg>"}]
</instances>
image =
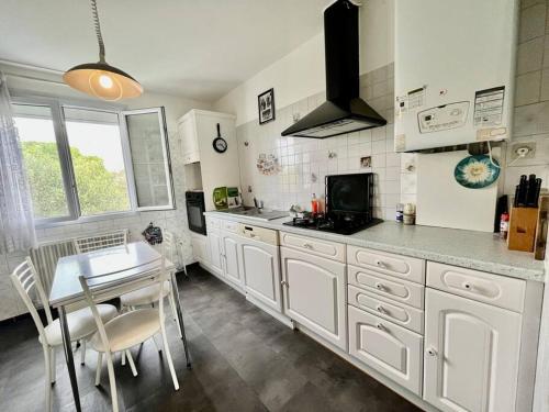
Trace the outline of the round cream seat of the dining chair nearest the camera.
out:
<instances>
[{"instance_id":1,"label":"round cream seat of the dining chair nearest the camera","mask_svg":"<svg viewBox=\"0 0 549 412\"><path fill-rule=\"evenodd\" d=\"M111 352L120 352L141 344L160 330L158 309L137 309L116 316L105 323L107 338ZM93 349L105 352L99 332L90 339Z\"/></svg>"}]
</instances>

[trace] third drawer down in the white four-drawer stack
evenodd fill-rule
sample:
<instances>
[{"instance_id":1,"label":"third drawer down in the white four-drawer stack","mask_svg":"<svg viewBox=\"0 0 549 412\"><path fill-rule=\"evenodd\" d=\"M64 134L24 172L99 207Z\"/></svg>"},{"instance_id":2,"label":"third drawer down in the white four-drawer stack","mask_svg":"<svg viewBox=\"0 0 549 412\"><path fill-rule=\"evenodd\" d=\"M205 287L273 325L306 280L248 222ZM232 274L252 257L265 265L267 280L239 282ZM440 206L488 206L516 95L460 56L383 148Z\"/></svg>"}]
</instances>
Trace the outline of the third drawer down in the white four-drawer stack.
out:
<instances>
[{"instance_id":1,"label":"third drawer down in the white four-drawer stack","mask_svg":"<svg viewBox=\"0 0 549 412\"><path fill-rule=\"evenodd\" d=\"M377 297L356 286L348 286L348 303L367 312L376 313L411 331L423 333L423 311L389 299Z\"/></svg>"}]
</instances>

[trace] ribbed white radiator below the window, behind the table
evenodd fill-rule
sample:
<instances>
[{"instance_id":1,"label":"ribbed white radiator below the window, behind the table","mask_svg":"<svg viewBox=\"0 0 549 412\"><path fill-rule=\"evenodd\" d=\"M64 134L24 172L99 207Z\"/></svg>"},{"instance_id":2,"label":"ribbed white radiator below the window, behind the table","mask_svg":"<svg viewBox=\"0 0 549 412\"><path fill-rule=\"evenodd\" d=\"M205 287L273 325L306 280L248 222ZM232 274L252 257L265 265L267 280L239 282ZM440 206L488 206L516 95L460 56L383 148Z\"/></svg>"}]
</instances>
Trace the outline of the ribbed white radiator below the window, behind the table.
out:
<instances>
[{"instance_id":1,"label":"ribbed white radiator below the window, behind the table","mask_svg":"<svg viewBox=\"0 0 549 412\"><path fill-rule=\"evenodd\" d=\"M31 259L36 267L38 277L47 296L54 281L55 268L60 257L75 255L74 241L63 240L42 243L37 248L31 249Z\"/></svg>"}]
</instances>

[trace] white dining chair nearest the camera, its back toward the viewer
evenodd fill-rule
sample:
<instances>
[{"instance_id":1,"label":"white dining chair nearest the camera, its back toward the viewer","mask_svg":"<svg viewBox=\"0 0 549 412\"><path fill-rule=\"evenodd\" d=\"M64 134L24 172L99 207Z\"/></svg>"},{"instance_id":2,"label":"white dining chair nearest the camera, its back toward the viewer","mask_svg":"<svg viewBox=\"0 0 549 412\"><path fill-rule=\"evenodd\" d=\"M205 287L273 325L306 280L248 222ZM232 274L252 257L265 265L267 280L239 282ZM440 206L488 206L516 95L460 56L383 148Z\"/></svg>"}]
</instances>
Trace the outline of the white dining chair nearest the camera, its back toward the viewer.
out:
<instances>
[{"instance_id":1,"label":"white dining chair nearest the camera, its back toward the viewer","mask_svg":"<svg viewBox=\"0 0 549 412\"><path fill-rule=\"evenodd\" d=\"M93 285L101 283L102 278L105 279L107 277L112 276L112 274L104 274L88 278L83 276L79 277L80 285L82 286L82 290L86 296L86 301L93 313L97 324L97 332L90 338L90 346L98 352L99 366L102 364L103 355L107 358L107 369L109 371L109 382L111 387L112 410L114 412L119 411L119 401L112 355L115 353L128 355L132 371L134 376L136 376L137 371L135 370L135 365L133 364L128 349L133 346L145 343L147 339L154 341L154 336L157 333L160 333L163 337L164 354L166 355L166 360L168 361L171 379L173 381L173 388L179 390L179 381L173 368L168 346L168 338L166 336L163 288L160 287L168 280L169 274L166 271L164 256L149 261L147 265L155 264L158 264L159 269L152 270L149 279L150 282L157 287L157 308L135 309L133 311L122 313L116 318L111 319L109 322L103 322L103 319L99 313L99 305L96 304L96 296L93 293ZM96 385L99 385L99 380L101 378L100 374L101 368L98 367L96 374Z\"/></svg>"}]
</instances>

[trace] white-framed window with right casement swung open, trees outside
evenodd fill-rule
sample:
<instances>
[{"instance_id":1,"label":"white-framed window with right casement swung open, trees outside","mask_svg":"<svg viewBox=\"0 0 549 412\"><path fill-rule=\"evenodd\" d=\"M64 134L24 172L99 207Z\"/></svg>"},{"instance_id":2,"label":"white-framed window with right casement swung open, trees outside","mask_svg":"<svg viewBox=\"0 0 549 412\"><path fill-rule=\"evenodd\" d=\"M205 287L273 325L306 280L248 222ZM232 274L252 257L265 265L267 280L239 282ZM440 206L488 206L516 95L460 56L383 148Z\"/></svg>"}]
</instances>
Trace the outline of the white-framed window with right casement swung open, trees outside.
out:
<instances>
[{"instance_id":1,"label":"white-framed window with right casement swung open, trees outside","mask_svg":"<svg viewBox=\"0 0 549 412\"><path fill-rule=\"evenodd\" d=\"M161 108L121 112L46 98L14 101L38 225L173 208Z\"/></svg>"}]
</instances>

